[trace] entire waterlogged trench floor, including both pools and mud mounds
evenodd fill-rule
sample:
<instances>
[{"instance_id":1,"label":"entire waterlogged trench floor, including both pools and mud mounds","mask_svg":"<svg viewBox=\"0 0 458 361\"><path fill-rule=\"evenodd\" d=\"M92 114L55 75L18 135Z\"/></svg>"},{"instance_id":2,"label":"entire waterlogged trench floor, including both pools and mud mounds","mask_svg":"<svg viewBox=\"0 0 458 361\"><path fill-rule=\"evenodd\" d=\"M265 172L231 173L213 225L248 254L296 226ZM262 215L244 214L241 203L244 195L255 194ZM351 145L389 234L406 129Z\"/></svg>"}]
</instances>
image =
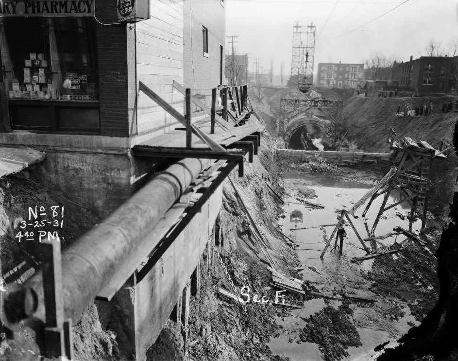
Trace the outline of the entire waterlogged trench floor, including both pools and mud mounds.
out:
<instances>
[{"instance_id":1,"label":"entire waterlogged trench floor, including both pools and mud mounds","mask_svg":"<svg viewBox=\"0 0 458 361\"><path fill-rule=\"evenodd\" d=\"M381 347L377 348L379 344L388 343L388 347L396 344L396 340L410 327L423 320L437 300L439 284L435 277L437 261L433 253L440 237L440 224L429 215L425 236L427 245L424 248L404 240L404 237L391 237L378 241L372 247L378 252L401 247L402 252L361 264L350 262L351 258L364 256L365 252L359 249L361 245L355 234L347 230L343 255L331 251L320 260L323 241L329 237L333 227L299 231L290 229L336 223L335 212L356 202L380 179L382 173L328 164L282 163L281 167L284 172L280 183L285 189L285 200L289 203L285 207L283 231L289 231L287 234L300 244L297 253L301 266L304 266L300 276L311 282L319 292L340 300L315 298L312 301L315 305L318 302L318 307L311 314L307 314L305 309L303 314L301 310L289 312L285 317L289 320L289 327L282 329L279 339L284 340L283 343L292 343L291 348L286 350L287 347L273 343L273 349L279 352L283 350L283 354L293 361L302 360L304 352L314 355L315 358L309 360L373 360L381 353ZM330 208L328 213L301 206L301 199L307 198ZM295 222L290 219L293 210L303 214L300 223L297 223L297 219ZM320 215L320 212L323 214ZM394 225L403 225L404 214L407 214L407 208L396 207L392 214L388 213L386 219L379 223L377 233L385 234ZM356 215L353 223L358 232L367 237L359 214ZM372 216L370 211L368 218ZM373 302L352 300L346 296ZM330 343L330 340L333 342ZM317 344L318 355L313 344Z\"/></svg>"}]
</instances>

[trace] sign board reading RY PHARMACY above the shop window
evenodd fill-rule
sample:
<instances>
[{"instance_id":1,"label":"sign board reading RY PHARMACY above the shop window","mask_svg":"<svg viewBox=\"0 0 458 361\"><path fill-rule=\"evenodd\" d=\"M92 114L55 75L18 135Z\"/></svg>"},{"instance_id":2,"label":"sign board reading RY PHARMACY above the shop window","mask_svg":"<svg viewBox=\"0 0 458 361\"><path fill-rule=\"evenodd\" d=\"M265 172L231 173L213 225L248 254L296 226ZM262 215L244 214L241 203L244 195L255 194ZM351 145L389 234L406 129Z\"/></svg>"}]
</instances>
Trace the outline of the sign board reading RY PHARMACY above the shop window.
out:
<instances>
[{"instance_id":1,"label":"sign board reading RY PHARMACY above the shop window","mask_svg":"<svg viewBox=\"0 0 458 361\"><path fill-rule=\"evenodd\" d=\"M0 0L0 17L91 17L94 0Z\"/></svg>"}]
</instances>

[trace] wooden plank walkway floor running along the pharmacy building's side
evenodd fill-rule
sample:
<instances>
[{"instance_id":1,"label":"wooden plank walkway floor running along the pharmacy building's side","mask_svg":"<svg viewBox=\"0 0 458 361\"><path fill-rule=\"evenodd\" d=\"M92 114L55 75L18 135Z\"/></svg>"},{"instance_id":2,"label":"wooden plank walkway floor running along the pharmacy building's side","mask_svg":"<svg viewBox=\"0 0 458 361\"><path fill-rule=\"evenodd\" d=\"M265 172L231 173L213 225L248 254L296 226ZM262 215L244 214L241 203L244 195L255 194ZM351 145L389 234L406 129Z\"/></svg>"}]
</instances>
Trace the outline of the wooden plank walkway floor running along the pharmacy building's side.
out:
<instances>
[{"instance_id":1,"label":"wooden plank walkway floor running along the pharmacy building's side","mask_svg":"<svg viewBox=\"0 0 458 361\"><path fill-rule=\"evenodd\" d=\"M242 113L243 116L243 113ZM202 130L209 138L221 144L227 146L242 138L245 138L255 132L261 132L264 130L262 125L255 117L251 117L244 125L235 126L235 123L228 121L224 125L228 128L227 130L221 129L221 127L215 127L215 134L210 134L210 118L208 121L199 121L194 123ZM152 147L152 148L186 148L186 131L185 130L173 130L169 133L161 134L160 136L154 137L143 143L136 145L135 147ZM192 135L192 148L203 148L208 149L208 146L197 136Z\"/></svg>"}]
</instances>

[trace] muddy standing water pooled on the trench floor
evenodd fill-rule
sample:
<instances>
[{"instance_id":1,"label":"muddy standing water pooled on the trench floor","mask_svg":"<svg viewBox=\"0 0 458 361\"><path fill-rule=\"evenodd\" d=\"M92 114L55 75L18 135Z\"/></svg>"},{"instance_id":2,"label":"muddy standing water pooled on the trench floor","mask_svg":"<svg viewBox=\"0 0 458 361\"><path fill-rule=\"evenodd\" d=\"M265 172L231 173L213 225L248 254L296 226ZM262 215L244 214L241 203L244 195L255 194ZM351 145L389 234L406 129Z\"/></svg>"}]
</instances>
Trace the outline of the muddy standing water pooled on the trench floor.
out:
<instances>
[{"instance_id":1,"label":"muddy standing water pooled on the trench floor","mask_svg":"<svg viewBox=\"0 0 458 361\"><path fill-rule=\"evenodd\" d=\"M354 309L354 323L361 338L362 346L350 347L349 360L371 360L378 356L373 351L378 344L390 341L395 344L410 326L418 324L410 314L408 306L397 300L379 299L376 294L369 291L371 282L367 281L363 275L372 267L372 261L366 260L360 264L352 263L350 260L354 257L366 255L361 243L355 232L348 225L345 226L347 238L344 239L343 255L333 250L334 241L332 241L324 258L320 259L320 254L325 245L325 239L331 235L334 226L338 221L339 210L350 208L356 203L372 186L364 184L355 184L339 182L322 175L300 174L295 172L285 173L282 179L282 186L287 191L289 197L285 199L287 204L284 206L285 218L281 219L283 233L300 244L297 254L301 265L305 265L304 271L301 271L304 280L311 281L316 288L323 293L345 293L365 298L377 299L374 304L366 303L357 305L352 304ZM297 204L299 201L296 197L305 198L304 194L310 194L313 190L317 195L315 199L308 199L313 203L319 203L324 206L323 209L312 208L310 206ZM396 197L396 195L394 196ZM382 197L373 202L366 218L368 227L371 229L373 221L378 213ZM396 202L395 198L390 197L387 206ZM360 207L351 220L355 225L362 239L369 237L367 228L361 217L364 206ZM400 205L391 208L384 213L383 218L378 223L375 230L375 236L385 235L392 232L395 226L408 228L408 205ZM402 220L401 217L405 217ZM321 227L316 227L321 226ZM413 230L418 232L421 223L414 223ZM302 230L295 228L315 227ZM405 237L399 235L391 236L385 240L365 244L372 249L377 249L381 244L393 244L402 242ZM382 257L396 257L387 255ZM312 300L314 303L305 305L305 309L294 310L290 318L278 318L276 321L282 326L280 337L273 339L270 347L274 355L288 356L293 361L303 360L322 360L316 344L296 343L299 338L295 336L295 330L304 327L304 321L301 317L306 318L310 314L320 311L325 303L322 299ZM312 302L309 301L309 302ZM404 311L404 317L398 321L390 320L385 316L387 309L396 302ZM335 308L339 306L339 301L333 301ZM300 320L300 321L297 321ZM390 345L389 345L390 346ZM389 347L388 346L388 347ZM305 356L308 355L308 356Z\"/></svg>"}]
</instances>

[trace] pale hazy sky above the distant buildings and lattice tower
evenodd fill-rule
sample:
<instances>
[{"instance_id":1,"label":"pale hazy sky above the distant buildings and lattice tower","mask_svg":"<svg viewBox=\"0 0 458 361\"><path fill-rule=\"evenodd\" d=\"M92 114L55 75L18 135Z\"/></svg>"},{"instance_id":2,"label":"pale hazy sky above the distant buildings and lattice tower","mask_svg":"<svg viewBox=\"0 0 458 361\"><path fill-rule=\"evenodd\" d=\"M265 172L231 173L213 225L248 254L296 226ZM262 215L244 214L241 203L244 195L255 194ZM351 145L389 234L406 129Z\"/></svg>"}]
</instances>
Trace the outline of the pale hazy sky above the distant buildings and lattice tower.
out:
<instances>
[{"instance_id":1,"label":"pale hazy sky above the distant buildings and lattice tower","mask_svg":"<svg viewBox=\"0 0 458 361\"><path fill-rule=\"evenodd\" d=\"M274 74L281 62L290 74L296 23L316 26L315 74L318 63L365 63L376 52L407 61L425 55L431 39L442 49L458 40L458 0L226 0L225 5L226 37L238 35L235 53L248 53L251 71L257 58L265 72L273 60Z\"/></svg>"}]
</instances>

